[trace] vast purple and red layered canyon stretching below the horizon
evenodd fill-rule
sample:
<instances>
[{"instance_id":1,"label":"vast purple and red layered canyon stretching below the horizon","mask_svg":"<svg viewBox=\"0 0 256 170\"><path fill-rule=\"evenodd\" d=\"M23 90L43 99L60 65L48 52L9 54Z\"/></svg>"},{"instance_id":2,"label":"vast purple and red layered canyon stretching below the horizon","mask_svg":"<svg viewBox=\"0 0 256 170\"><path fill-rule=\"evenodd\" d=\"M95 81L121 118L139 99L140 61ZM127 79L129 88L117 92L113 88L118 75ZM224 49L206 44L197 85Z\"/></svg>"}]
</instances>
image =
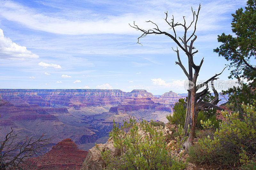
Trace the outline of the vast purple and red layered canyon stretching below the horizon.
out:
<instances>
[{"instance_id":1,"label":"vast purple and red layered canyon stretching below the horizon","mask_svg":"<svg viewBox=\"0 0 256 170\"><path fill-rule=\"evenodd\" d=\"M14 133L24 136L45 133L53 137L52 149L46 151L42 160L35 159L33 165L76 169L69 162L73 151L82 153L95 146L95 142L106 143L113 120L119 125L129 117L167 122L165 116L172 114L172 105L185 97L172 91L155 97L146 90L0 89L0 99L9 101L0 108L0 137L10 132L11 127ZM65 147L72 152L64 154ZM63 155L65 159L57 165L53 155ZM78 157L80 160L83 156Z\"/></svg>"}]
</instances>

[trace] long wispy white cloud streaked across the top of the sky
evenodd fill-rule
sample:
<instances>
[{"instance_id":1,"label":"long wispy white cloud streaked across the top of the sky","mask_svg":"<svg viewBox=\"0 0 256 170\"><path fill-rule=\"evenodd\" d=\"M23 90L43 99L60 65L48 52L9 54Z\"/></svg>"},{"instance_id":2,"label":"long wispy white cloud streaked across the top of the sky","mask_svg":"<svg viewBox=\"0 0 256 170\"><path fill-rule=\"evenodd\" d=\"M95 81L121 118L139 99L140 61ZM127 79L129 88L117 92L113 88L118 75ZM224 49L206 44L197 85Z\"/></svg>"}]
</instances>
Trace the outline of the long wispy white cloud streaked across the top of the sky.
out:
<instances>
[{"instance_id":1,"label":"long wispy white cloud streaked across the top of the sky","mask_svg":"<svg viewBox=\"0 0 256 170\"><path fill-rule=\"evenodd\" d=\"M77 19L76 17L67 17L67 15L65 14L58 16L57 13L52 12L51 14L47 15L45 13L39 13L35 9L31 9L27 6L23 6L12 1L1 1L0 15L10 21L15 21L24 26L27 26L28 28L50 33L134 34L136 31L134 29L131 29L127 22L132 23L133 20L136 19L136 23L139 23L141 26L145 27L149 24L145 23L145 20L150 19L159 24L162 22L162 18L164 17L163 11L167 11L168 9L171 14L174 14L176 20L182 21L182 16L188 16L186 18L192 19L190 8L191 6L194 6L196 10L199 3L199 1L186 4L181 2L179 3L179 1L173 1L172 3L162 1L161 3L160 1L132 1L132 3L129 4L130 10L128 10L129 12L126 13L123 12L119 15L103 15L97 14L96 11L91 11L87 14L88 16L90 16L89 18L77 17ZM200 26L199 29L210 30L213 27L217 28L217 26L214 24L216 23L216 21L223 19L223 17L221 17L221 14L227 12L229 8L235 6L235 2L231 3L227 1L226 3L226 5L223 5L222 1L204 2L202 5L207 6L208 8L202 9L202 13L205 13L205 15L201 16L204 18L204 22L198 23ZM142 4L144 8L138 8L138 6L141 6ZM226 8L227 5L229 8ZM125 9L123 8L123 10ZM72 15L77 16L75 12L73 12ZM162 26L163 24L159 25Z\"/></svg>"}]
</instances>

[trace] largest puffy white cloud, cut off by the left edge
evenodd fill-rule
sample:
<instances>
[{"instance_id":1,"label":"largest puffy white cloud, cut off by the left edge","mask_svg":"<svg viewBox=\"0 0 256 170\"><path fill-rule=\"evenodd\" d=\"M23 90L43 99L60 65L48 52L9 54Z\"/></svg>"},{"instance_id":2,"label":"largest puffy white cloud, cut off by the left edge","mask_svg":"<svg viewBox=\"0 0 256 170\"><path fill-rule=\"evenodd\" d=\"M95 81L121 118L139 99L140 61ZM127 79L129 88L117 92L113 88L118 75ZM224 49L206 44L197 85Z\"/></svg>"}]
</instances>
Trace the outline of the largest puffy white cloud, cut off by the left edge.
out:
<instances>
[{"instance_id":1,"label":"largest puffy white cloud, cut off by the left edge","mask_svg":"<svg viewBox=\"0 0 256 170\"><path fill-rule=\"evenodd\" d=\"M4 36L3 30L0 29L0 58L24 60L39 58L39 56L27 50L26 47L12 42L10 38Z\"/></svg>"}]
</instances>

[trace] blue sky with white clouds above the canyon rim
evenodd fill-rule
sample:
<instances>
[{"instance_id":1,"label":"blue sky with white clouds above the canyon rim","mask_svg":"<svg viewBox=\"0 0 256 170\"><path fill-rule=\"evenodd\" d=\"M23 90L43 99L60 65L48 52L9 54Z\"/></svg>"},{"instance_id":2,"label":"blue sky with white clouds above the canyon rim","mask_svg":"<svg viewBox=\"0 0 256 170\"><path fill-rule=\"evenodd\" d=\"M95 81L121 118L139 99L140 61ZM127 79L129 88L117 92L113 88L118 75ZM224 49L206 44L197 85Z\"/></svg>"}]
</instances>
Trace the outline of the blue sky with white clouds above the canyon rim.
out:
<instances>
[{"instance_id":1,"label":"blue sky with white clouds above the canyon rim","mask_svg":"<svg viewBox=\"0 0 256 170\"><path fill-rule=\"evenodd\" d=\"M164 35L147 35L155 22L173 33L164 21L192 19L199 4L194 62L204 63L199 81L220 73L228 62L214 48L217 36L232 34L232 13L246 0L0 0L0 88L11 89L145 89L154 95L187 92L186 76L176 64L176 44ZM177 28L182 37L183 29ZM191 33L188 31L188 33ZM187 57L180 50L187 68ZM228 80L230 70L219 76ZM233 80L235 81L235 80ZM226 88L226 87L225 87ZM218 90L221 91L221 88Z\"/></svg>"}]
</instances>

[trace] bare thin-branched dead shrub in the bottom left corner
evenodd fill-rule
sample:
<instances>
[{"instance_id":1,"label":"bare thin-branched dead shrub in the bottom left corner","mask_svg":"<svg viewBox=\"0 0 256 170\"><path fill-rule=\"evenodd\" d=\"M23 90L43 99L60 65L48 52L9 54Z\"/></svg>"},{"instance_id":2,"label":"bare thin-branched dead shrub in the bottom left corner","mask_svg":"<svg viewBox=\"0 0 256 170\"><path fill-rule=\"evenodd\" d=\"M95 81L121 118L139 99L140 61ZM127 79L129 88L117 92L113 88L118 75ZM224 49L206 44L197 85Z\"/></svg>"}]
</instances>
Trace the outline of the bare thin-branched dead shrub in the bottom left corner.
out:
<instances>
[{"instance_id":1,"label":"bare thin-branched dead shrub in the bottom left corner","mask_svg":"<svg viewBox=\"0 0 256 170\"><path fill-rule=\"evenodd\" d=\"M29 169L29 158L45 153L52 138L45 136L23 136L13 129L0 141L0 170Z\"/></svg>"}]
</instances>

